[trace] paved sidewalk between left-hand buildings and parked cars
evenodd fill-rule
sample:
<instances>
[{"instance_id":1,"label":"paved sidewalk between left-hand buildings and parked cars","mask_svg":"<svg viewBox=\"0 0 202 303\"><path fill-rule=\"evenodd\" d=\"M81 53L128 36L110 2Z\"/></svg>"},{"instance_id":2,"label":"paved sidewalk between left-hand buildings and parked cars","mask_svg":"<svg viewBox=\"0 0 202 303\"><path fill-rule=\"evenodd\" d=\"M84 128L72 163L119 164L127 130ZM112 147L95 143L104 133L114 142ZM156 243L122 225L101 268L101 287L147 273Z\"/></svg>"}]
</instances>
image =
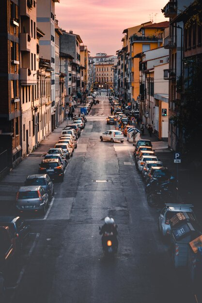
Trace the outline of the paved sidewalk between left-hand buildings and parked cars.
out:
<instances>
[{"instance_id":1,"label":"paved sidewalk between left-hand buildings and parked cars","mask_svg":"<svg viewBox=\"0 0 202 303\"><path fill-rule=\"evenodd\" d=\"M28 175L37 174L41 156L47 152L61 136L62 128L67 124L63 121L54 131L47 136L39 145L39 147L31 152L17 167L12 169L0 181L0 206L10 205L15 201L16 192L19 186L24 185L24 181Z\"/></svg>"}]
</instances>

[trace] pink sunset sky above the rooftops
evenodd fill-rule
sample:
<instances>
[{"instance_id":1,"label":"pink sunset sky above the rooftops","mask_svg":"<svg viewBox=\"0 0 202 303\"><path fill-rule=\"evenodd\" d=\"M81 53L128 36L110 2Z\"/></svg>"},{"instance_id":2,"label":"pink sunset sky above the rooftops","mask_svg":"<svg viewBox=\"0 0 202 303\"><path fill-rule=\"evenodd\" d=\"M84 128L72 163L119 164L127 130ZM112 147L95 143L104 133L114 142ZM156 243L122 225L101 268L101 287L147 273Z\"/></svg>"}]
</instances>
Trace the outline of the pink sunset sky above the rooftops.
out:
<instances>
[{"instance_id":1,"label":"pink sunset sky above the rooftops","mask_svg":"<svg viewBox=\"0 0 202 303\"><path fill-rule=\"evenodd\" d=\"M169 21L161 13L168 0L60 0L55 14L59 26L73 30L91 55L115 55L122 48L123 30L150 21ZM157 14L157 15L155 15Z\"/></svg>"}]
</instances>

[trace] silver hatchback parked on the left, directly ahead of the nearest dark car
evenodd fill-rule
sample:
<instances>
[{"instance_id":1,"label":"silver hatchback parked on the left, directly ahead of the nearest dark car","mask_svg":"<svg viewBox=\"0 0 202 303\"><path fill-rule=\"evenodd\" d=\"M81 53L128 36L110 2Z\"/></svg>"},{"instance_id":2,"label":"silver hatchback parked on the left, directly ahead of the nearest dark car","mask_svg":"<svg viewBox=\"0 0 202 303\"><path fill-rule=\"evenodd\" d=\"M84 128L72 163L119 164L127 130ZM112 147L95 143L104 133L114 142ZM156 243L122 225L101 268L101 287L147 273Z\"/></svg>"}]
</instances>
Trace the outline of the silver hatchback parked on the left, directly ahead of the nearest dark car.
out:
<instances>
[{"instance_id":1,"label":"silver hatchback parked on the left, directly ahead of the nearest dark car","mask_svg":"<svg viewBox=\"0 0 202 303\"><path fill-rule=\"evenodd\" d=\"M16 196L16 209L19 212L41 212L45 215L48 194L40 186L21 186Z\"/></svg>"}]
</instances>

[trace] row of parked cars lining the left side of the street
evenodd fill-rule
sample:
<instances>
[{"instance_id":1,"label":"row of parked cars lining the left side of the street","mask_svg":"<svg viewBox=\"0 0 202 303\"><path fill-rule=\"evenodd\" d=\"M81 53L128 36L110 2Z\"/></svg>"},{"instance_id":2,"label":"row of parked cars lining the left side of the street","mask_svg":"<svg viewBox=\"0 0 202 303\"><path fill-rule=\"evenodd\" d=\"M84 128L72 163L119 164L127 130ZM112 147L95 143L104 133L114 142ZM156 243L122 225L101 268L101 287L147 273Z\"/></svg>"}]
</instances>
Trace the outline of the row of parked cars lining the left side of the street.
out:
<instances>
[{"instance_id":1,"label":"row of parked cars lining the left side of the street","mask_svg":"<svg viewBox=\"0 0 202 303\"><path fill-rule=\"evenodd\" d=\"M16 194L15 208L18 214L39 213L45 215L46 208L54 196L54 182L63 181L68 159L77 148L81 129L86 118L75 116L72 124L62 129L59 141L43 155L38 174L27 176L24 186ZM29 238L31 227L17 216L0 216L0 272L6 272L7 263L19 253Z\"/></svg>"}]
</instances>

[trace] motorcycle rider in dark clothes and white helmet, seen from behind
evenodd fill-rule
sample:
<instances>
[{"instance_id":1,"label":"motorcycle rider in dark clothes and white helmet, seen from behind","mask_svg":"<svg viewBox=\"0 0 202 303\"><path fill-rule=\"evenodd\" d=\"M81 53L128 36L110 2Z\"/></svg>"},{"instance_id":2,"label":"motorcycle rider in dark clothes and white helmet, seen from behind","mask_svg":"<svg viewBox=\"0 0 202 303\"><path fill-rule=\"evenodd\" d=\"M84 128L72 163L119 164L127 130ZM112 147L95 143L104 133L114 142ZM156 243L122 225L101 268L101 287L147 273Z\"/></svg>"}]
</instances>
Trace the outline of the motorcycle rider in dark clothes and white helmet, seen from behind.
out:
<instances>
[{"instance_id":1,"label":"motorcycle rider in dark clothes and white helmet, seen from behind","mask_svg":"<svg viewBox=\"0 0 202 303\"><path fill-rule=\"evenodd\" d=\"M112 238L115 244L115 247L118 248L118 240L117 240L117 225L114 223L113 218L105 217L105 223L101 227L99 234L102 235L102 247L105 246L105 232L112 233Z\"/></svg>"}]
</instances>

